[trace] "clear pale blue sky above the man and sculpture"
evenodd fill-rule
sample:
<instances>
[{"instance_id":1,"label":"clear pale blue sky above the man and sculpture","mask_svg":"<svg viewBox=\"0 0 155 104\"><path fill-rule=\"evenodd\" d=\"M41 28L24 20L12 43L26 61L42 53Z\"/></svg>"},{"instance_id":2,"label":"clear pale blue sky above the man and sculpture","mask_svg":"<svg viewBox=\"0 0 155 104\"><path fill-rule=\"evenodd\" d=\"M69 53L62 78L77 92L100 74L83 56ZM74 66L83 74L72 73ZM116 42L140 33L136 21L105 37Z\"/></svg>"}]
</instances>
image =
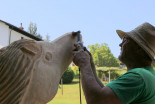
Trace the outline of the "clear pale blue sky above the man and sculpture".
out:
<instances>
[{"instance_id":1,"label":"clear pale blue sky above the man and sculpture","mask_svg":"<svg viewBox=\"0 0 155 104\"><path fill-rule=\"evenodd\" d=\"M28 31L30 22L50 40L81 31L84 45L108 44L117 58L121 39L116 30L131 31L144 22L155 26L155 0L1 0L0 20Z\"/></svg>"}]
</instances>

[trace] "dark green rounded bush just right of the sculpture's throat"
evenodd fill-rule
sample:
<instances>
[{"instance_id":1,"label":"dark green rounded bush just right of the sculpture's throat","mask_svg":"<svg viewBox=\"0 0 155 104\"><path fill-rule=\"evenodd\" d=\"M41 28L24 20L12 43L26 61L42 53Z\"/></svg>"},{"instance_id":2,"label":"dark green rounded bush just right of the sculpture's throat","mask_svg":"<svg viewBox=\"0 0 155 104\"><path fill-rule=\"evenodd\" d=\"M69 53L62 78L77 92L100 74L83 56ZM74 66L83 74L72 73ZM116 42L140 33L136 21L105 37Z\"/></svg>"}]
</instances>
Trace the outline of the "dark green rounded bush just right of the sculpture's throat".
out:
<instances>
[{"instance_id":1,"label":"dark green rounded bush just right of the sculpture's throat","mask_svg":"<svg viewBox=\"0 0 155 104\"><path fill-rule=\"evenodd\" d=\"M71 69L71 67L68 67L68 69L62 75L63 83L64 84L71 83L73 78L74 78L74 72Z\"/></svg>"}]
</instances>

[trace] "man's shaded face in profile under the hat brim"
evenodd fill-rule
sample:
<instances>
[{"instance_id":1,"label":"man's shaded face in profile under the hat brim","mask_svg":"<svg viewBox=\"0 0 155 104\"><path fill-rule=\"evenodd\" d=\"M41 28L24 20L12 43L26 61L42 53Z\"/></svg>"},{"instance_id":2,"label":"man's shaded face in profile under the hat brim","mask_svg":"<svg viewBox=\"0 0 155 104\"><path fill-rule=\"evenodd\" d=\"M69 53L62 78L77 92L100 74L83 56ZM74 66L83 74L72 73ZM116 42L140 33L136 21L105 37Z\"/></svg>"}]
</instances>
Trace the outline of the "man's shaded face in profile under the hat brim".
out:
<instances>
[{"instance_id":1,"label":"man's shaded face in profile under the hat brim","mask_svg":"<svg viewBox=\"0 0 155 104\"><path fill-rule=\"evenodd\" d=\"M119 60L124 64L134 61L135 55L137 55L138 44L128 36L123 38L122 43L119 45L121 52Z\"/></svg>"}]
</instances>

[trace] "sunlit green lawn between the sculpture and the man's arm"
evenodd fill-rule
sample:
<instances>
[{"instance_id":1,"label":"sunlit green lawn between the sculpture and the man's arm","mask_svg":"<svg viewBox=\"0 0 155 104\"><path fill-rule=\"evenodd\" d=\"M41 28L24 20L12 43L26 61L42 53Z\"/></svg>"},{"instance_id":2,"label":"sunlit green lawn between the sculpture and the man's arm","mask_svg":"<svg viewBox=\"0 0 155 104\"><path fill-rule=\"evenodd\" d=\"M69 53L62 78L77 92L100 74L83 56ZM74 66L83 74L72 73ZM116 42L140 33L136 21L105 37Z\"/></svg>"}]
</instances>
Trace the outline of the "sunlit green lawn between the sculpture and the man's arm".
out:
<instances>
[{"instance_id":1,"label":"sunlit green lawn between the sculpture and the man's arm","mask_svg":"<svg viewBox=\"0 0 155 104\"><path fill-rule=\"evenodd\" d=\"M50 101L47 104L80 104L78 78L74 78L71 84L63 85L63 95L61 88L59 88L56 96L53 98L52 101ZM83 91L82 91L82 104L86 104Z\"/></svg>"}]
</instances>

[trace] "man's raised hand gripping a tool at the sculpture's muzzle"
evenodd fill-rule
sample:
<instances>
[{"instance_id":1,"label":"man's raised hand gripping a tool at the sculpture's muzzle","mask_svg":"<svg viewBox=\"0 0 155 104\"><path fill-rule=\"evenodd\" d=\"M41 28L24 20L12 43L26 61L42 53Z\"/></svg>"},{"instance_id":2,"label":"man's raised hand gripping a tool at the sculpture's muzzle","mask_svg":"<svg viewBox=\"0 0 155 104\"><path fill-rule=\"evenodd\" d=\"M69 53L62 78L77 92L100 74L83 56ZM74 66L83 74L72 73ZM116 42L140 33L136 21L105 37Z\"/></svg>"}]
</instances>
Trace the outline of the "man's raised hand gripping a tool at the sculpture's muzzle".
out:
<instances>
[{"instance_id":1,"label":"man's raised hand gripping a tool at the sculpture's muzzle","mask_svg":"<svg viewBox=\"0 0 155 104\"><path fill-rule=\"evenodd\" d=\"M73 62L75 65L81 67L90 63L90 56L87 51L84 51L79 44L74 44L77 51L73 52Z\"/></svg>"}]
</instances>

